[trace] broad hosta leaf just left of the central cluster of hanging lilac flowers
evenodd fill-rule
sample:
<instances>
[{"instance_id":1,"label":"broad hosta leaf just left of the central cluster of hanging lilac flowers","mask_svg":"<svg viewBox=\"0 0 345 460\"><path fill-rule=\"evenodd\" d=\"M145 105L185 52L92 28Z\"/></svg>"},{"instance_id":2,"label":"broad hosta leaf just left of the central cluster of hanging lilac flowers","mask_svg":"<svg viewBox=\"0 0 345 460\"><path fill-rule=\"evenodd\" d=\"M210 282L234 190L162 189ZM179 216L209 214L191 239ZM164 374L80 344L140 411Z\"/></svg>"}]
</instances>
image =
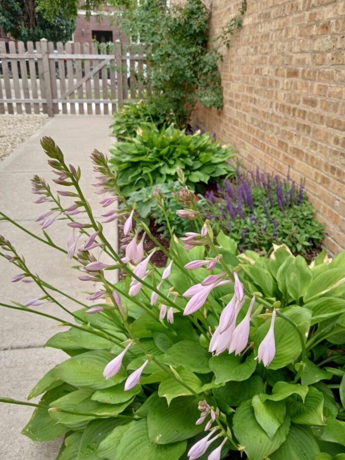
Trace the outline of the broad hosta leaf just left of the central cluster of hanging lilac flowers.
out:
<instances>
[{"instance_id":1,"label":"broad hosta leaf just left of the central cluster of hanging lilac flowers","mask_svg":"<svg viewBox=\"0 0 345 460\"><path fill-rule=\"evenodd\" d=\"M165 354L163 362L172 366L183 366L199 374L207 374L209 353L206 348L191 340L181 340L174 344Z\"/></svg>"}]
</instances>

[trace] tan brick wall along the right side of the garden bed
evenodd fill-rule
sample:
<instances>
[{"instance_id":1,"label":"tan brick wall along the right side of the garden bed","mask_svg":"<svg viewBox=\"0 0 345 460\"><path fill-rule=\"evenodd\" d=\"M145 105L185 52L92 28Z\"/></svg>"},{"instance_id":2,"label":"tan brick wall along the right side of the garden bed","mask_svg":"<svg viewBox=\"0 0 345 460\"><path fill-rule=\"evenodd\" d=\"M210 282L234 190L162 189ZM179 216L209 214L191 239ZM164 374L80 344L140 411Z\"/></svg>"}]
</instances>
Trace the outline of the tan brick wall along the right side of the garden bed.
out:
<instances>
[{"instance_id":1,"label":"tan brick wall along the right side of the garden bed","mask_svg":"<svg viewBox=\"0 0 345 460\"><path fill-rule=\"evenodd\" d=\"M211 37L240 4L213 0ZM193 122L232 142L246 169L305 177L326 248L344 249L345 0L248 0L221 75L223 109L198 106Z\"/></svg>"}]
</instances>

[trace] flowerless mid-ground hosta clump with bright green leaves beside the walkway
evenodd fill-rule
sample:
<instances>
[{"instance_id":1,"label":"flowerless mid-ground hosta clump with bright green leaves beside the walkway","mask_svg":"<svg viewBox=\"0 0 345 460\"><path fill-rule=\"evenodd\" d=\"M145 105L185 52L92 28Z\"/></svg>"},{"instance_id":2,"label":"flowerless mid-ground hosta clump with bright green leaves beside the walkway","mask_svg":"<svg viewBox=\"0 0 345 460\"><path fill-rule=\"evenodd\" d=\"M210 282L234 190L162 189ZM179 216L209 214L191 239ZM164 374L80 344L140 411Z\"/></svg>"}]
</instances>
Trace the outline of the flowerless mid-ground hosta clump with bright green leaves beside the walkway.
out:
<instances>
[{"instance_id":1,"label":"flowerless mid-ground hosta clump with bright green leaves beside the walkway","mask_svg":"<svg viewBox=\"0 0 345 460\"><path fill-rule=\"evenodd\" d=\"M208 133L186 135L170 125L158 130L143 124L131 141L117 142L110 150L110 167L117 172L117 183L128 196L132 191L177 179L176 170L184 170L187 185L231 176L234 157L230 147L219 145Z\"/></svg>"}]
</instances>

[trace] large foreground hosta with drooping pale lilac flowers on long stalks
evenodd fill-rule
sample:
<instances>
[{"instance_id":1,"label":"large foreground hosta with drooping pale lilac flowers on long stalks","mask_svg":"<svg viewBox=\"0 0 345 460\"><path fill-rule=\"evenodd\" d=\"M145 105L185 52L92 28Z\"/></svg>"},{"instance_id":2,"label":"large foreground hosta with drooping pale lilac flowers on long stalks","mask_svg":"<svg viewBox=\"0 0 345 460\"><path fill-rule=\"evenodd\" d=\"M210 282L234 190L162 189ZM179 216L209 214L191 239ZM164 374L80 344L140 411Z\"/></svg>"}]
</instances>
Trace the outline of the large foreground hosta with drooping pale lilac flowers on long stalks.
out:
<instances>
[{"instance_id":1,"label":"large foreground hosta with drooping pale lilac flowers on long stalks","mask_svg":"<svg viewBox=\"0 0 345 460\"><path fill-rule=\"evenodd\" d=\"M106 157L92 155L104 194L98 221L80 170L51 139L42 146L61 186L55 195L43 178L33 179L42 237L1 216L65 252L92 292L69 311L56 292L69 301L75 293L47 283L1 237L1 255L18 267L13 281L24 282L21 290L36 283L42 295L0 305L69 327L47 342L67 359L30 392L40 402L0 399L35 406L23 433L37 441L65 435L59 460L344 458L345 252L334 260L322 253L310 266L284 247L270 258L239 255L233 240L213 235L183 187L179 214L195 221L195 232L173 237L169 252L158 244L145 253L142 242L152 235L135 206L126 207ZM115 208L118 201L125 208ZM66 248L49 236L57 219L71 227ZM127 238L122 259L104 235L115 220ZM164 269L150 262L157 250L169 256ZM112 283L120 267L126 279ZM70 321L50 315L51 304Z\"/></svg>"}]
</instances>

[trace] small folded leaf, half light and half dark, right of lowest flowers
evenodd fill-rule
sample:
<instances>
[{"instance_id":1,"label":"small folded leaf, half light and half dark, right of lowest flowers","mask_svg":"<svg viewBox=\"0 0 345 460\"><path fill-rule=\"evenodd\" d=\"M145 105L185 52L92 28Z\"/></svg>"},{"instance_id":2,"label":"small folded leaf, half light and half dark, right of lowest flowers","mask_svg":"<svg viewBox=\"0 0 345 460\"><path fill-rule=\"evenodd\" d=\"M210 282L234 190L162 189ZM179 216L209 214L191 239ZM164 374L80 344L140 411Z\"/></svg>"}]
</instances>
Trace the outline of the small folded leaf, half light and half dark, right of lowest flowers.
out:
<instances>
[{"instance_id":1,"label":"small folded leaf, half light and half dark, right of lowest flowers","mask_svg":"<svg viewBox=\"0 0 345 460\"><path fill-rule=\"evenodd\" d=\"M272 439L276 430L284 422L286 415L286 406L284 401L261 401L260 395L256 394L252 400L255 418L258 424L263 428Z\"/></svg>"}]
</instances>

